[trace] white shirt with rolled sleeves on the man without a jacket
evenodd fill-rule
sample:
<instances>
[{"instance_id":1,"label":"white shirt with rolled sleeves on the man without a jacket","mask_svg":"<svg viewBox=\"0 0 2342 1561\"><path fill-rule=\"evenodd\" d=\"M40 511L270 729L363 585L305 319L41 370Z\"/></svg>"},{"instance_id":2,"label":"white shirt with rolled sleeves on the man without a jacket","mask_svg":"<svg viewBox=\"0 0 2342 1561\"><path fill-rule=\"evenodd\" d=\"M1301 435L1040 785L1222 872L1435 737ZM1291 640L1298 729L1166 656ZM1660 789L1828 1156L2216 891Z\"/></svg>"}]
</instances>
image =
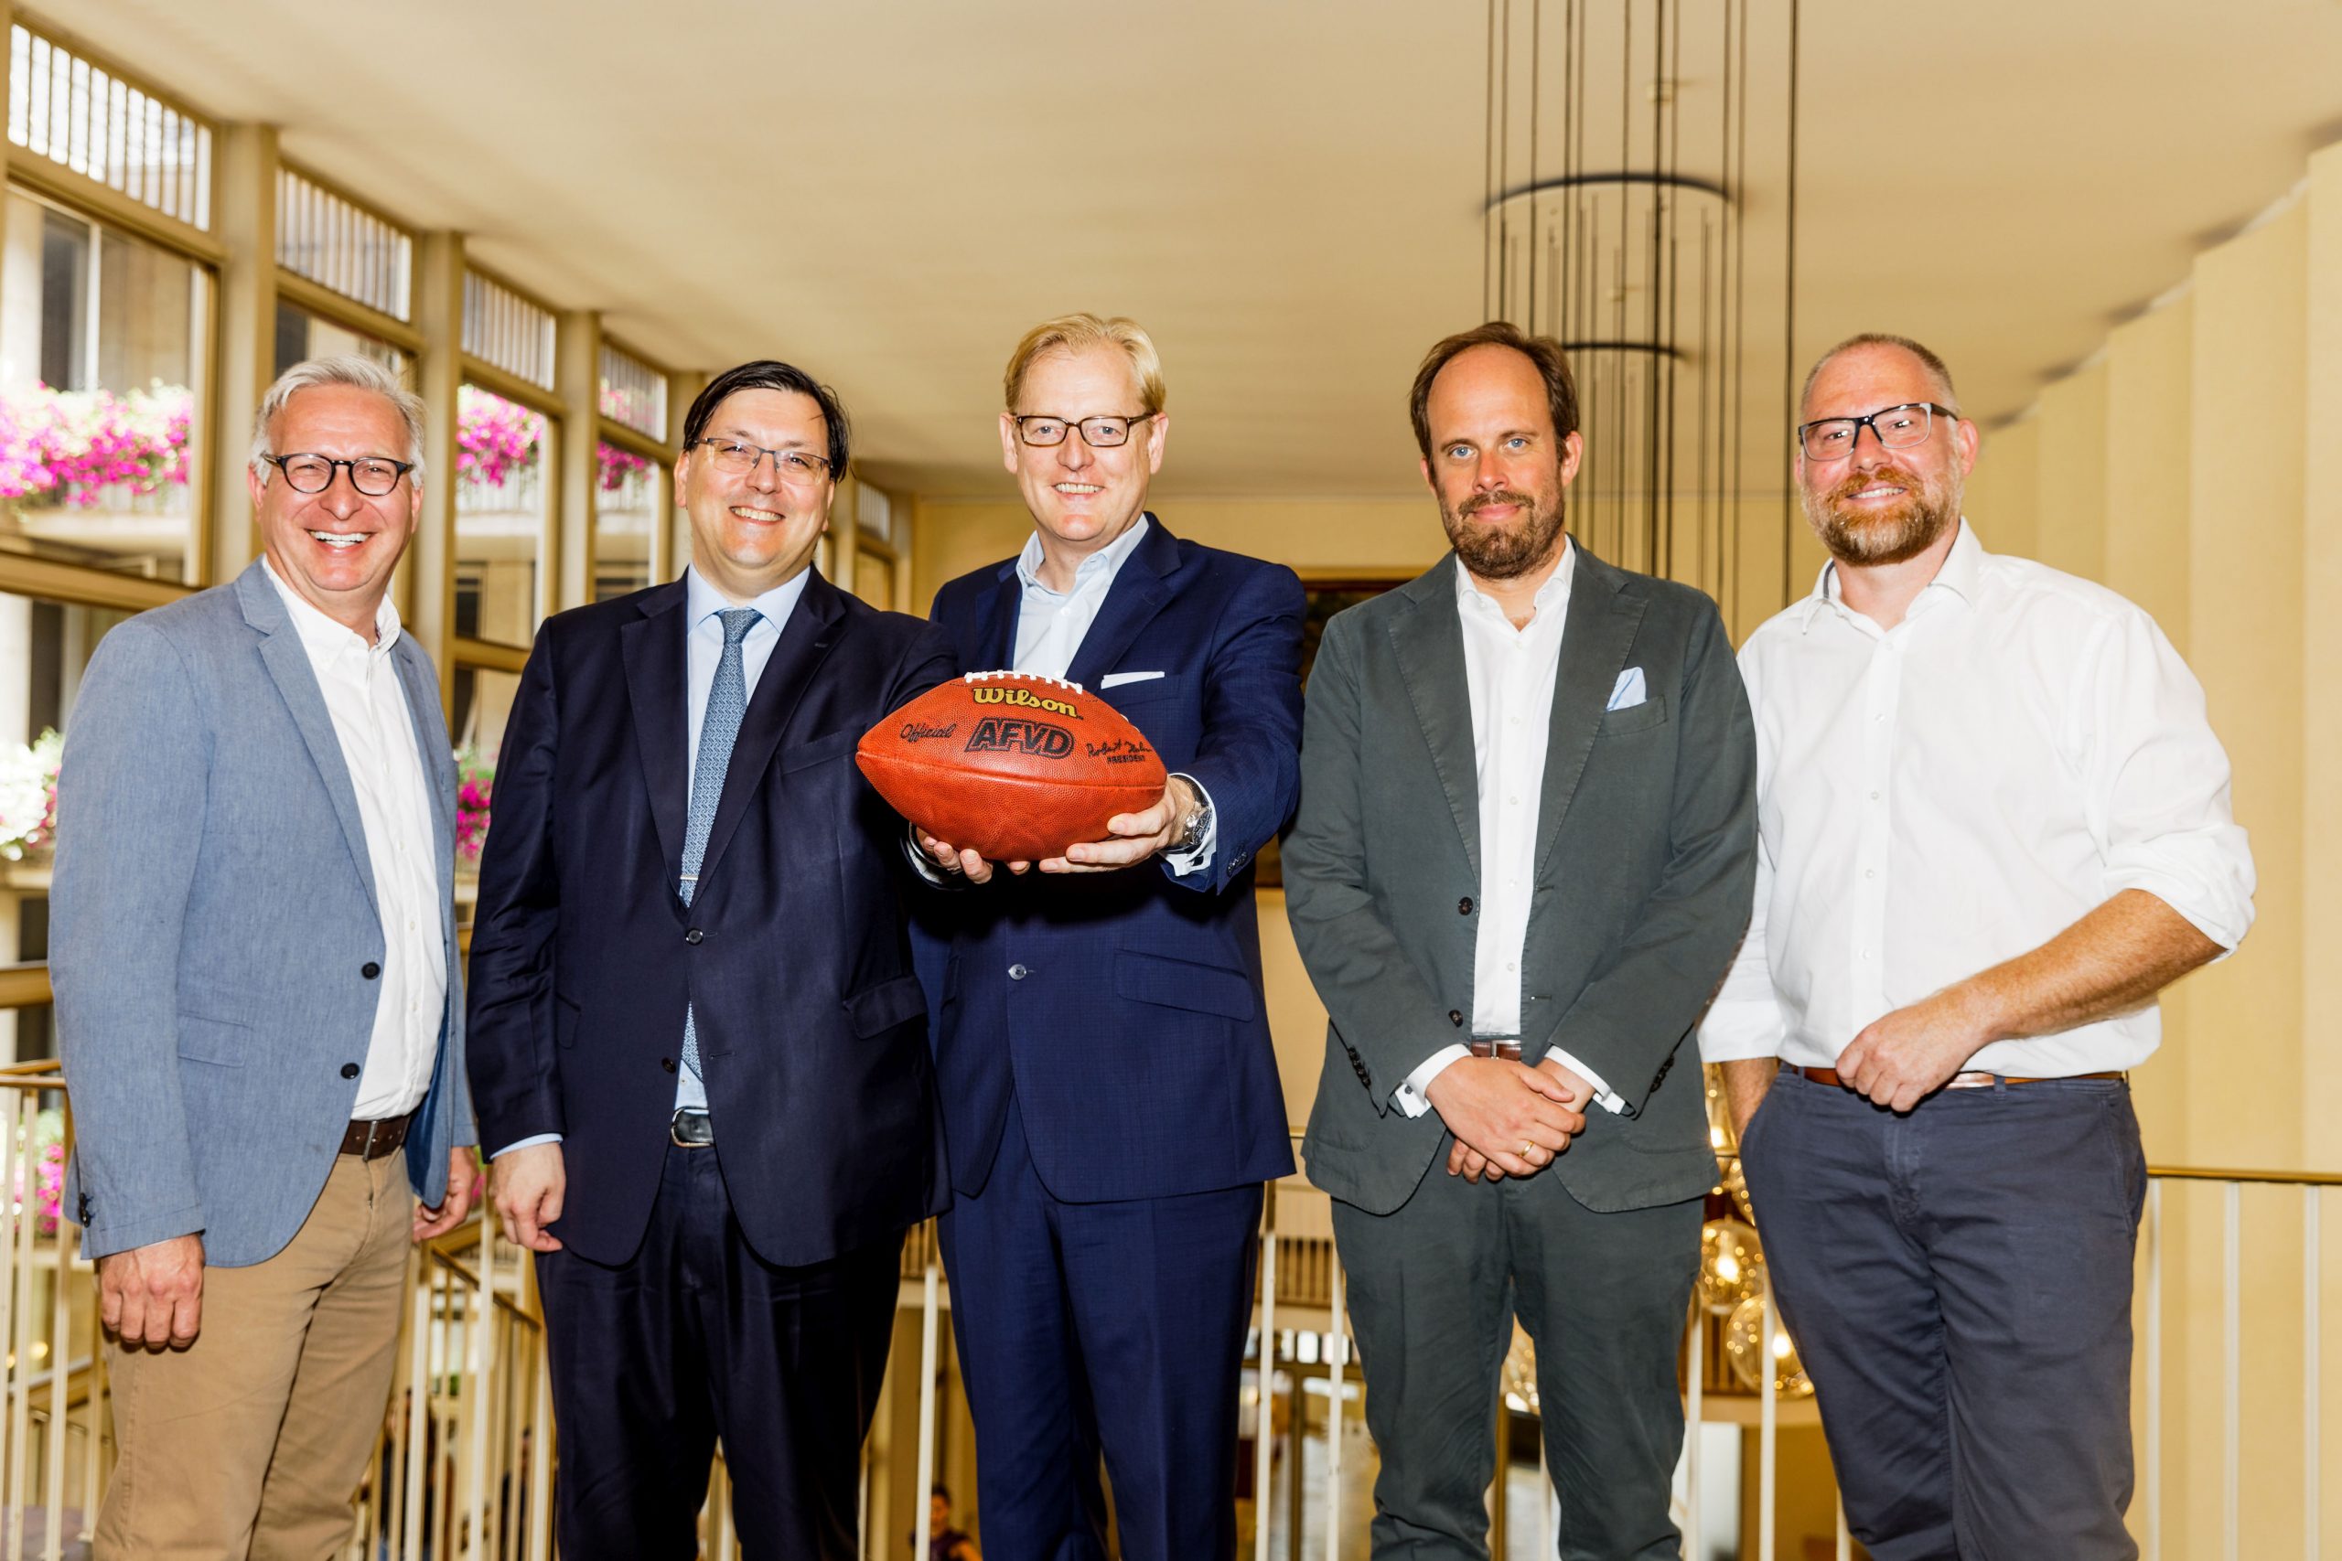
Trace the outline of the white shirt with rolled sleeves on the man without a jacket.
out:
<instances>
[{"instance_id":1,"label":"white shirt with rolled sleeves on the man without a jacket","mask_svg":"<svg viewBox=\"0 0 2342 1561\"><path fill-rule=\"evenodd\" d=\"M1707 1020L1710 1063L1834 1067L1871 1020L2040 948L2122 889L2234 948L2253 857L2204 690L2110 590L1998 557L1960 522L1892 630L1836 569L1740 651L1756 714L1756 906ZM2152 1002L1965 1063L2134 1067Z\"/></svg>"}]
</instances>

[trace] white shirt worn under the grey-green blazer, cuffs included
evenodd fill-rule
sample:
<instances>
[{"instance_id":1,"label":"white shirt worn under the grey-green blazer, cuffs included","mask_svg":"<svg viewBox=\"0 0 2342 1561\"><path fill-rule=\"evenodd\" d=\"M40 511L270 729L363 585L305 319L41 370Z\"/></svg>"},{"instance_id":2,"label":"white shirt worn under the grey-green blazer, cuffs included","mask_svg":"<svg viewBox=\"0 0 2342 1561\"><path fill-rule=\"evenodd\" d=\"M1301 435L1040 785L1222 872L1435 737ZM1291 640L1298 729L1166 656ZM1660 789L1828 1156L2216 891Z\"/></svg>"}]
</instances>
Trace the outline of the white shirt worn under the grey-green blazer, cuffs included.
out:
<instances>
[{"instance_id":1,"label":"white shirt worn under the grey-green blazer, cuffs included","mask_svg":"<svg viewBox=\"0 0 2342 1561\"><path fill-rule=\"evenodd\" d=\"M1529 896L1536 887L1536 812L1546 793L1546 737L1553 728L1553 686L1562 667L1569 623L1569 583L1579 573L1576 543L1536 590L1527 627L1515 630L1504 606L1471 583L1457 559L1457 616L1464 620L1464 683L1471 690L1473 777L1480 786L1480 929L1473 943L1471 1032L1520 1034L1520 960L1529 941ZM1466 1046L1443 1046L1391 1091L1408 1116L1431 1109L1431 1081ZM1555 1063L1586 1079L1607 1112L1623 1112L1609 1084L1553 1046Z\"/></svg>"}]
</instances>

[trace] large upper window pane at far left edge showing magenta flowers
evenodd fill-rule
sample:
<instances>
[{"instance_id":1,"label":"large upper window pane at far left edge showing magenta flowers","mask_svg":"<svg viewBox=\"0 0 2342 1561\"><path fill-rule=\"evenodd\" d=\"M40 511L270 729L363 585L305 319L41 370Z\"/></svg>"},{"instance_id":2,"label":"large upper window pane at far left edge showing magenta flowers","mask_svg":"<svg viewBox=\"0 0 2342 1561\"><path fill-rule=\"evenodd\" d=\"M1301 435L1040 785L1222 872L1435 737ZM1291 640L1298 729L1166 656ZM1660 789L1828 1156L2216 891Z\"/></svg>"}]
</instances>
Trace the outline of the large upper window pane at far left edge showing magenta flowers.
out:
<instances>
[{"instance_id":1,"label":"large upper window pane at far left edge showing magenta flowers","mask_svg":"<svg viewBox=\"0 0 2342 1561\"><path fill-rule=\"evenodd\" d=\"M211 274L26 194L0 229L0 550L192 578Z\"/></svg>"}]
</instances>

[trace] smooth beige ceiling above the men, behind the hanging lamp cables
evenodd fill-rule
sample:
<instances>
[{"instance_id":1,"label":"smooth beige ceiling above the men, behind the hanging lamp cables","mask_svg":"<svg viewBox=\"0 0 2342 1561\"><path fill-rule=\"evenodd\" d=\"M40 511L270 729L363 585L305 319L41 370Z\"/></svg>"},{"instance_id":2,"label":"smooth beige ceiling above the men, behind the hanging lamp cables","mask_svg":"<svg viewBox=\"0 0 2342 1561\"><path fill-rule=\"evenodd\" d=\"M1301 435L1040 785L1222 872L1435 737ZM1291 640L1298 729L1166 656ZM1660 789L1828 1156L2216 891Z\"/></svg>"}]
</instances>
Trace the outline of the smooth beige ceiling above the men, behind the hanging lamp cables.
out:
<instances>
[{"instance_id":1,"label":"smooth beige ceiling above the men, behind the hanging lamp cables","mask_svg":"<svg viewBox=\"0 0 2342 1561\"><path fill-rule=\"evenodd\" d=\"M1164 491L1412 491L1408 377L1480 314L1482 0L35 14L646 353L813 367L925 494L1005 491L1000 360L1063 309L1157 335ZM1799 353L1920 335L1986 421L2342 136L2337 0L1808 0L1801 59ZM1684 70L1686 105L1714 87ZM1749 321L1773 426L1778 304Z\"/></svg>"}]
</instances>

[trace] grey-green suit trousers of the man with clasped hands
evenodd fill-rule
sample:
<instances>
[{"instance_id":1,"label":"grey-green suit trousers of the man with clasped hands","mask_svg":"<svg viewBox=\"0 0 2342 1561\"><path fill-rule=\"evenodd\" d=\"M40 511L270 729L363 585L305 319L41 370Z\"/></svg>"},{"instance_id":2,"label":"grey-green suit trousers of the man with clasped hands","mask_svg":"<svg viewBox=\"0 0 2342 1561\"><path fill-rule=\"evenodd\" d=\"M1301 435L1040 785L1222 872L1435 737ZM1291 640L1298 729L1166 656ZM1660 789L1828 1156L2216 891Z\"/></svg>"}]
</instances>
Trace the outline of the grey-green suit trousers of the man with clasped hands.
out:
<instances>
[{"instance_id":1,"label":"grey-green suit trousers of the man with clasped hands","mask_svg":"<svg viewBox=\"0 0 2342 1561\"><path fill-rule=\"evenodd\" d=\"M1450 1177L1445 1151L1391 1215L1333 1205L1365 1425L1382 1453L1375 1561L1487 1556L1497 1376L1513 1313L1536 1341L1562 1561L1682 1554L1668 1491L1684 1446L1675 1362L1700 1201L1597 1215L1548 1170Z\"/></svg>"}]
</instances>

